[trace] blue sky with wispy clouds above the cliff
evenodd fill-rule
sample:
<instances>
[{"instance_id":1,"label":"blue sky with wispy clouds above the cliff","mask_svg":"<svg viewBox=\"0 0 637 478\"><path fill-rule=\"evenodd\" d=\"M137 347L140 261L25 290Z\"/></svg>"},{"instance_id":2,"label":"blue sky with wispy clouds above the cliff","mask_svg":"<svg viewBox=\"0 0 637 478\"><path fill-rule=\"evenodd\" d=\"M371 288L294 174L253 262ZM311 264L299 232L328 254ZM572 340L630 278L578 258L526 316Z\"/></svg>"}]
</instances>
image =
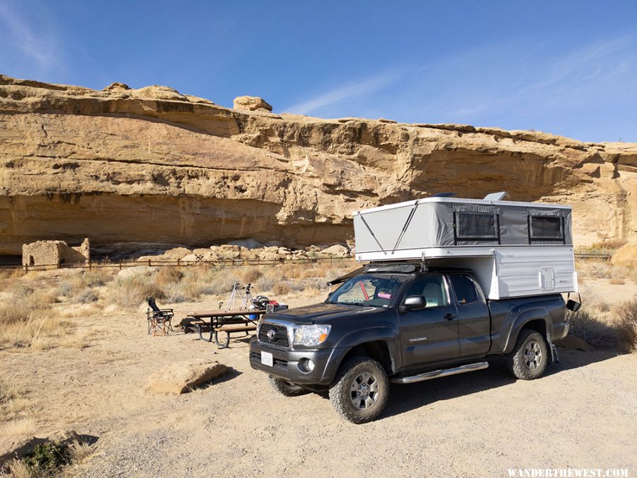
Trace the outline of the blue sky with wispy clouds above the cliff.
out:
<instances>
[{"instance_id":1,"label":"blue sky with wispy clouds above the cliff","mask_svg":"<svg viewBox=\"0 0 637 478\"><path fill-rule=\"evenodd\" d=\"M0 0L0 73L637 142L637 0Z\"/></svg>"}]
</instances>

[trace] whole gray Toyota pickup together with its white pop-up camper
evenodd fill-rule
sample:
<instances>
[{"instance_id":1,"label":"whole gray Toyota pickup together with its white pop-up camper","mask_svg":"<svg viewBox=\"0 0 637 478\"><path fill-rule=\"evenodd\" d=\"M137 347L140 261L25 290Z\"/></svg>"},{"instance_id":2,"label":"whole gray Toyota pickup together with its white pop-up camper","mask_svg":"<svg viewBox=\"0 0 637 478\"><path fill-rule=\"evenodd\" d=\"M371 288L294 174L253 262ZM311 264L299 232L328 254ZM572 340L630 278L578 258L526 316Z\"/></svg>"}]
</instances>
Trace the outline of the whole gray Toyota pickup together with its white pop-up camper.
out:
<instances>
[{"instance_id":1,"label":"whole gray Toyota pickup together with its white pop-up camper","mask_svg":"<svg viewBox=\"0 0 637 478\"><path fill-rule=\"evenodd\" d=\"M250 363L292 397L328 390L344 419L375 419L389 382L483 370L504 355L533 380L568 333L577 291L564 205L437 195L354 214L355 258L325 302L265 314Z\"/></svg>"}]
</instances>

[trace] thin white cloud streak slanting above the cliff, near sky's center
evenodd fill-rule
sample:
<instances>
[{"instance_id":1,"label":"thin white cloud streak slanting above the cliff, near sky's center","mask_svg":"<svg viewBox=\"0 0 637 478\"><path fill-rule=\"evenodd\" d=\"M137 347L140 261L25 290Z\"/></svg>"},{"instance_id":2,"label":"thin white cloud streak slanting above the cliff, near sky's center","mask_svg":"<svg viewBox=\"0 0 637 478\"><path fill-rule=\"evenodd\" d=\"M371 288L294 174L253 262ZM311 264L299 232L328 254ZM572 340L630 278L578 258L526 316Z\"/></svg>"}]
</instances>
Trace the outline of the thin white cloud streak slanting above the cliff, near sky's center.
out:
<instances>
[{"instance_id":1,"label":"thin white cloud streak slanting above the cliff, near sky's center","mask_svg":"<svg viewBox=\"0 0 637 478\"><path fill-rule=\"evenodd\" d=\"M385 86L396 81L396 79L398 79L400 76L401 72L391 70L389 72L383 72L376 76L372 76L371 78L352 81L343 86L338 86L337 88L331 89L326 93L322 93L315 98L311 98L309 100L303 101L302 103L297 103L295 105L289 106L285 109L285 111L286 113L308 115L309 113L312 113L319 108L323 108L324 106L338 103L339 101L343 101L348 98L364 96L369 93L373 93L374 91L378 91L379 89L382 89Z\"/></svg>"}]
</instances>

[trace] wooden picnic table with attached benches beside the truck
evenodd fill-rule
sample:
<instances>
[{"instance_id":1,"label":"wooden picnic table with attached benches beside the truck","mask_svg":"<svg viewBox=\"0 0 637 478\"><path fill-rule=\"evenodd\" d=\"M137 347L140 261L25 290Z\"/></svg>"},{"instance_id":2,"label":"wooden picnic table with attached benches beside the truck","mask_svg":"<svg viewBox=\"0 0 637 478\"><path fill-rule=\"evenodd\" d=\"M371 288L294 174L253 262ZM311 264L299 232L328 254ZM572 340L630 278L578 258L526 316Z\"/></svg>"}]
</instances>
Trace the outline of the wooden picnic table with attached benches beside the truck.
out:
<instances>
[{"instance_id":1,"label":"wooden picnic table with attached benches beside the truck","mask_svg":"<svg viewBox=\"0 0 637 478\"><path fill-rule=\"evenodd\" d=\"M258 319L265 314L265 310L204 310L191 312L186 319L195 319L193 326L197 327L200 340L217 344L219 348L226 348L230 343L230 334L243 333L246 336L256 331ZM252 317L256 316L256 317ZM252 317L252 318L251 318ZM203 335L207 329L208 337ZM219 333L225 333L225 340L219 340Z\"/></svg>"}]
</instances>

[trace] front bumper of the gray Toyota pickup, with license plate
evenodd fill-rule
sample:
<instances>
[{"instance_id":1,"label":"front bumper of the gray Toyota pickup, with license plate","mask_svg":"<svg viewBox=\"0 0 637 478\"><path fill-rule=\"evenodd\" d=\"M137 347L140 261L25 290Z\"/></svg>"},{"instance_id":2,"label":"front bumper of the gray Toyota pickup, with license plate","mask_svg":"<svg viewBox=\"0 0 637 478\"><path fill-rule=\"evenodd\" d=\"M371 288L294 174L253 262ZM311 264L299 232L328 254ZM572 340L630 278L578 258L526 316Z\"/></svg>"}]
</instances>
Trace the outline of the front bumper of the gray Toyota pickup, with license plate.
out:
<instances>
[{"instance_id":1,"label":"front bumper of the gray Toyota pickup, with license plate","mask_svg":"<svg viewBox=\"0 0 637 478\"><path fill-rule=\"evenodd\" d=\"M261 363L261 353L264 351L272 354L272 367ZM250 365L252 368L299 385L328 385L331 383L344 353L344 349L341 348L282 349L268 346L258 341L256 337L250 341ZM299 361L302 358L308 358L314 362L314 370L303 372L299 368Z\"/></svg>"}]
</instances>

